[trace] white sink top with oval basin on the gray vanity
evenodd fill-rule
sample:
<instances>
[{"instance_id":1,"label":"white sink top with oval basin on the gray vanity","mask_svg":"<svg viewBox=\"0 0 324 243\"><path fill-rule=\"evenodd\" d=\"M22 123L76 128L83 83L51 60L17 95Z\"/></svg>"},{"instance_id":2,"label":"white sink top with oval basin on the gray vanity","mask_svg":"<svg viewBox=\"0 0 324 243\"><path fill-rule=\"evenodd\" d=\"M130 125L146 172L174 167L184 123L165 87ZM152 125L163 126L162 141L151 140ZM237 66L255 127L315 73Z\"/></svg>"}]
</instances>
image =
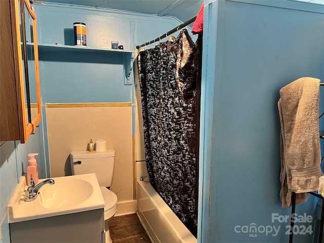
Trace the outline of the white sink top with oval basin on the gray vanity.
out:
<instances>
[{"instance_id":1,"label":"white sink top with oval basin on the gray vanity","mask_svg":"<svg viewBox=\"0 0 324 243\"><path fill-rule=\"evenodd\" d=\"M104 208L104 200L95 174L52 178L37 198L25 201L25 179L16 187L8 205L9 223ZM42 182L42 180L39 180Z\"/></svg>"}]
</instances>

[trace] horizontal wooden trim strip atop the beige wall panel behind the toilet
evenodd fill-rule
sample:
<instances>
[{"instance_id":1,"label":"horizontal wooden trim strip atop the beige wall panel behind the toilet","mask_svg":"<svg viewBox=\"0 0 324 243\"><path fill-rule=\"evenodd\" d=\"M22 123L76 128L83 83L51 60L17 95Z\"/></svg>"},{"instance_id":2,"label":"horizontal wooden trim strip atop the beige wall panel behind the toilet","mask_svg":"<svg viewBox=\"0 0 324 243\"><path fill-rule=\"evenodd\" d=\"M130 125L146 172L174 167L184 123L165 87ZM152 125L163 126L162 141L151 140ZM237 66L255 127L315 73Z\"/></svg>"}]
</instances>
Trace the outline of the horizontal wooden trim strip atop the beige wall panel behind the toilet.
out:
<instances>
[{"instance_id":1,"label":"horizontal wooden trim strip atop the beige wall panel behind the toilet","mask_svg":"<svg viewBox=\"0 0 324 243\"><path fill-rule=\"evenodd\" d=\"M131 102L123 103L47 103L46 108L78 108L78 107L130 107Z\"/></svg>"}]
</instances>

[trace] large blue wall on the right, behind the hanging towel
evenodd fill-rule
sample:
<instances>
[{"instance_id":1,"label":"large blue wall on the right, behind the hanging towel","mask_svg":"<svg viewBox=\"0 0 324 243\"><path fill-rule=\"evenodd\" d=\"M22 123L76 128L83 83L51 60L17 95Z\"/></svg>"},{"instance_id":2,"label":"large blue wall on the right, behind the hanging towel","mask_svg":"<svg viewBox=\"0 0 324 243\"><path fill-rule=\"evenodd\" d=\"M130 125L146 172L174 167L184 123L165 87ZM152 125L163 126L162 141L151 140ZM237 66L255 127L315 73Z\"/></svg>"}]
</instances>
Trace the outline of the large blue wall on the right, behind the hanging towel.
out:
<instances>
[{"instance_id":1,"label":"large blue wall on the right, behind the hanging towel","mask_svg":"<svg viewBox=\"0 0 324 243\"><path fill-rule=\"evenodd\" d=\"M299 77L324 83L323 6L205 4L199 241L288 242L290 219L272 220L273 214L289 217L291 212L279 199L277 101L279 90ZM324 91L320 99L323 103ZM296 224L296 232L302 225L314 230L316 201L310 196L296 207L297 214L312 217L311 223ZM245 232L251 225L260 227L256 234ZM280 227L277 234L273 227ZM310 232L299 233L294 242L312 238Z\"/></svg>"}]
</instances>

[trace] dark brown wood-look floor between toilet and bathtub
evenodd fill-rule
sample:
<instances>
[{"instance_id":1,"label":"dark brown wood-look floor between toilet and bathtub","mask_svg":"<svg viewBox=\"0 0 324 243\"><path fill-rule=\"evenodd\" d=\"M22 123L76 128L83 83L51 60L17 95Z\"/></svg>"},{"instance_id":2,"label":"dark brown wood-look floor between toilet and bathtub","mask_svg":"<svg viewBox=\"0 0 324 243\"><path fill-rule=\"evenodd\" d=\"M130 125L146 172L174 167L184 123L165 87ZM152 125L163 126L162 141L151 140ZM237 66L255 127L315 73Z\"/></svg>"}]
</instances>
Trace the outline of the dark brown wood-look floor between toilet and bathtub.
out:
<instances>
[{"instance_id":1,"label":"dark brown wood-look floor between toilet and bathtub","mask_svg":"<svg viewBox=\"0 0 324 243\"><path fill-rule=\"evenodd\" d=\"M114 217L109 230L113 243L152 243L137 214Z\"/></svg>"}]
</instances>

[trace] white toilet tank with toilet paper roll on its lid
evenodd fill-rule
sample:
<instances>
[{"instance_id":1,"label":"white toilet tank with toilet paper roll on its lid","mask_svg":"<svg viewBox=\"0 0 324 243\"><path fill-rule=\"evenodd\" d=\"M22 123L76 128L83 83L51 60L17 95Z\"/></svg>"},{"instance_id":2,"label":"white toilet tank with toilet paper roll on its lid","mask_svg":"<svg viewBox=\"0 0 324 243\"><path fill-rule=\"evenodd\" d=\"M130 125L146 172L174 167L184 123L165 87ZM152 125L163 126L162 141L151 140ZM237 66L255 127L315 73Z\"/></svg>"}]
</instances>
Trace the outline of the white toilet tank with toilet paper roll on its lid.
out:
<instances>
[{"instance_id":1,"label":"white toilet tank with toilet paper roll on its lid","mask_svg":"<svg viewBox=\"0 0 324 243\"><path fill-rule=\"evenodd\" d=\"M70 154L72 175L95 173L99 186L110 187L115 165L115 150L73 151Z\"/></svg>"}]
</instances>

